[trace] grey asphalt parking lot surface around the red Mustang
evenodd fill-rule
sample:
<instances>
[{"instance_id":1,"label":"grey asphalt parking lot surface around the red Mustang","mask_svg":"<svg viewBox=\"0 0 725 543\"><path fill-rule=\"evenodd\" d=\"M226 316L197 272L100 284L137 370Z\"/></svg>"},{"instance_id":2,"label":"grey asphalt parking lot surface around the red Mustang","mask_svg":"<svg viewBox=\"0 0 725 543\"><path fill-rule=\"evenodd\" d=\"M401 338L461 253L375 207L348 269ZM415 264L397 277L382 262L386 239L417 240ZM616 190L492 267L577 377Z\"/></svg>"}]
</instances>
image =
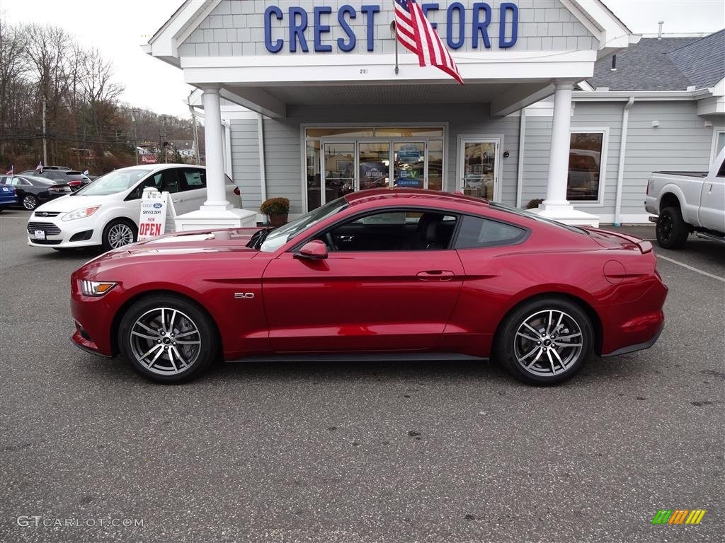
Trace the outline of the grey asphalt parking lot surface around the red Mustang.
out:
<instances>
[{"instance_id":1,"label":"grey asphalt parking lot surface around the red Mustang","mask_svg":"<svg viewBox=\"0 0 725 543\"><path fill-rule=\"evenodd\" d=\"M449 362L173 387L70 344L69 275L95 253L28 247L27 218L0 214L1 542L723 540L724 246L656 248L658 343L559 387Z\"/></svg>"}]
</instances>

